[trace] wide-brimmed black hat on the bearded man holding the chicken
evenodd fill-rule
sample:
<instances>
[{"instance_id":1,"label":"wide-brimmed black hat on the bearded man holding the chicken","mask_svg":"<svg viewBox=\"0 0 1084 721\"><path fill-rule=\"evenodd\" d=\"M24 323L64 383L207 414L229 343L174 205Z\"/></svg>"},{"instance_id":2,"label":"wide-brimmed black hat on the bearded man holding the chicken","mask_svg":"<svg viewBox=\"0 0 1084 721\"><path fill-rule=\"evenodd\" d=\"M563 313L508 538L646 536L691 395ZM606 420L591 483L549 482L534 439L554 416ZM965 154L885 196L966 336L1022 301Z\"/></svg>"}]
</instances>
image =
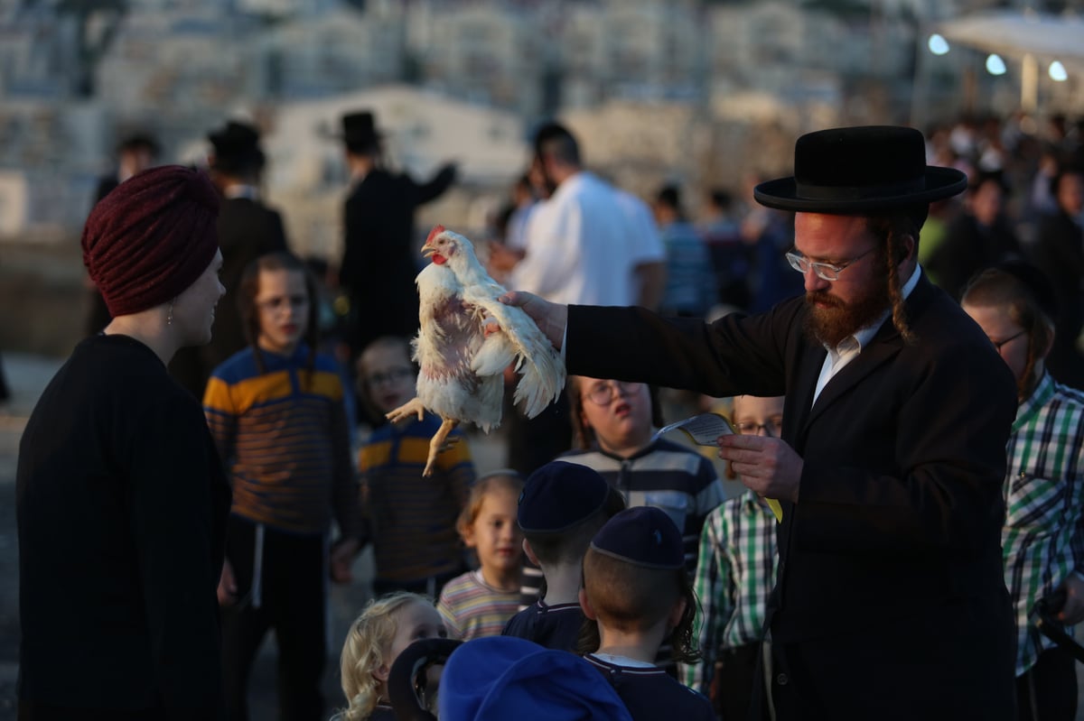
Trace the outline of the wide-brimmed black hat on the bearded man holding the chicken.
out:
<instances>
[{"instance_id":1,"label":"wide-brimmed black hat on the bearded man holding the chicken","mask_svg":"<svg viewBox=\"0 0 1084 721\"><path fill-rule=\"evenodd\" d=\"M966 187L963 172L926 165L914 128L868 126L802 135L793 176L761 183L753 197L769 208L856 214L929 205Z\"/></svg>"}]
</instances>

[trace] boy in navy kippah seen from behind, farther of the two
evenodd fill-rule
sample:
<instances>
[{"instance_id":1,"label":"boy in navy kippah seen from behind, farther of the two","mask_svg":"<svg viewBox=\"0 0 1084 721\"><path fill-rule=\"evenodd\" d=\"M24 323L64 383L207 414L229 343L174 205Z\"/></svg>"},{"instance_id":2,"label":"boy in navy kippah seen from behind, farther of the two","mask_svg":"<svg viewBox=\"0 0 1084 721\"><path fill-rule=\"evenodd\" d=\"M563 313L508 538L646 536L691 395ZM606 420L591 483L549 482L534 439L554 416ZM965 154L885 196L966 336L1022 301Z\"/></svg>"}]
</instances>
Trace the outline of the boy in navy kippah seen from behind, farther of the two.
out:
<instances>
[{"instance_id":1,"label":"boy in navy kippah seen from behind, farther of the two","mask_svg":"<svg viewBox=\"0 0 1084 721\"><path fill-rule=\"evenodd\" d=\"M517 523L527 558L542 568L544 593L508 620L503 635L546 648L576 650L583 626L583 553L598 529L622 509L621 495L578 463L552 461L527 479Z\"/></svg>"}]
</instances>

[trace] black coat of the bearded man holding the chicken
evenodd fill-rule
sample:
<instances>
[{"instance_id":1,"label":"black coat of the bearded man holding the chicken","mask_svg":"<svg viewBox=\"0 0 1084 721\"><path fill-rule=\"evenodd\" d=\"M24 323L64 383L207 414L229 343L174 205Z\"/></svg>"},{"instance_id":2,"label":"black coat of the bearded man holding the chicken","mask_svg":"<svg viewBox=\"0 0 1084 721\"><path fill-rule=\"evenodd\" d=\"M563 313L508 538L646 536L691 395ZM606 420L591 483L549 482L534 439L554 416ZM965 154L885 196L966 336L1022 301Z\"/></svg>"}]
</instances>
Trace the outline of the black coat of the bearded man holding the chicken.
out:
<instances>
[{"instance_id":1,"label":"black coat of the bearded man holding the chicken","mask_svg":"<svg viewBox=\"0 0 1084 721\"><path fill-rule=\"evenodd\" d=\"M1001 556L1014 379L926 278L906 306L917 341L887 322L815 405L826 351L801 298L711 326L569 309L571 373L786 396L783 438L804 467L770 603L773 647L793 661L780 720L1015 718Z\"/></svg>"}]
</instances>

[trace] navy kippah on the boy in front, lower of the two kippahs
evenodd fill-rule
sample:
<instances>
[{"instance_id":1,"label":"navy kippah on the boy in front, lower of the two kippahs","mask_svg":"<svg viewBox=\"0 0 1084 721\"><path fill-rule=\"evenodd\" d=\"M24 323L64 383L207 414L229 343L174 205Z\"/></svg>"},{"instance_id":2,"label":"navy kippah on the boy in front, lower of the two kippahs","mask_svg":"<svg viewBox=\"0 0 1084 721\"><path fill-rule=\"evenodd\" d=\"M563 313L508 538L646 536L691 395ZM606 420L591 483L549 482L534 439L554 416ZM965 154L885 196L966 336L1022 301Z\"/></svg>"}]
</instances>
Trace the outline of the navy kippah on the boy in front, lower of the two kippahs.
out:
<instances>
[{"instance_id":1,"label":"navy kippah on the boy in front, lower of the two kippahs","mask_svg":"<svg viewBox=\"0 0 1084 721\"><path fill-rule=\"evenodd\" d=\"M649 506L625 509L606 522L591 548L644 568L681 568L681 530L666 512Z\"/></svg>"}]
</instances>

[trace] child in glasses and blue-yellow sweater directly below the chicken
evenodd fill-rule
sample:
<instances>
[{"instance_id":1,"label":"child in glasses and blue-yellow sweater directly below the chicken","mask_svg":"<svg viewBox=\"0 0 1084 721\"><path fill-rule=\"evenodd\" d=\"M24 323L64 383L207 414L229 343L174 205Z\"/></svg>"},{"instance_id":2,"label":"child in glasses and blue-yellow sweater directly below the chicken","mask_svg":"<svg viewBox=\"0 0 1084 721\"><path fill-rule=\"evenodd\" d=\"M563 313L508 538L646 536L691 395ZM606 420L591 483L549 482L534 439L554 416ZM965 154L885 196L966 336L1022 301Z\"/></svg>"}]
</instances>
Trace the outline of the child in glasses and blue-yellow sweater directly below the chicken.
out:
<instances>
[{"instance_id":1,"label":"child in glasses and blue-yellow sweater directly below the chicken","mask_svg":"<svg viewBox=\"0 0 1084 721\"><path fill-rule=\"evenodd\" d=\"M404 338L385 336L358 358L361 401L376 417L414 397L417 371ZM475 481L470 449L454 430L437 469L422 477L440 419L426 414L376 428L359 454L361 503L373 541L373 592L412 591L433 598L465 571L456 519Z\"/></svg>"}]
</instances>

